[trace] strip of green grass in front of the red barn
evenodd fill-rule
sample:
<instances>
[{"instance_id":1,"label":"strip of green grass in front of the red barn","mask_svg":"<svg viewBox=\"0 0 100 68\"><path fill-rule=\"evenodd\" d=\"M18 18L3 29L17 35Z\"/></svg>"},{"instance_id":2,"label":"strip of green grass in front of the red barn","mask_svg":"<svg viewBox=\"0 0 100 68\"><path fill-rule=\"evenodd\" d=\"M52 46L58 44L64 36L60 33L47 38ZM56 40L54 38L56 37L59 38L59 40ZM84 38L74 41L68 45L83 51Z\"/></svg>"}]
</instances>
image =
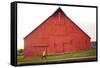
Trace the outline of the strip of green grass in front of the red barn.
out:
<instances>
[{"instance_id":1,"label":"strip of green grass in front of the red barn","mask_svg":"<svg viewBox=\"0 0 100 68\"><path fill-rule=\"evenodd\" d=\"M66 54L60 54L60 55L48 55L46 56L47 59L41 59L41 57L36 58L24 58L23 56L18 56L17 61L18 62L46 62L51 60L59 60L59 59L68 59L68 58L78 58L78 57L88 57L88 56L95 56L96 55L96 49L88 49L85 51L80 52L74 52L74 53L66 53Z\"/></svg>"}]
</instances>

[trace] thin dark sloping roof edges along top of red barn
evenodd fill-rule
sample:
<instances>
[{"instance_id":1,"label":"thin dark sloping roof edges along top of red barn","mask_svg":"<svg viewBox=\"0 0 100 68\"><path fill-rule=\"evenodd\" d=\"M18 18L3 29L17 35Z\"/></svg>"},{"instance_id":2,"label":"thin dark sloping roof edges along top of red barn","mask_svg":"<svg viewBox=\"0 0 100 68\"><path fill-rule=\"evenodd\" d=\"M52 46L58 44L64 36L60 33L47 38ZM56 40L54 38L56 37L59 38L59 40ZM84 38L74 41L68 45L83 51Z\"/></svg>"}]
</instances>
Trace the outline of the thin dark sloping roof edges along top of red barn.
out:
<instances>
[{"instance_id":1,"label":"thin dark sloping roof edges along top of red barn","mask_svg":"<svg viewBox=\"0 0 100 68\"><path fill-rule=\"evenodd\" d=\"M86 34L79 26L77 26L65 13L64 11L59 7L51 16L53 16L54 14L58 13L58 12L61 12L63 13L71 22L72 24L74 24L80 31L83 32L83 34L85 34L88 38L90 38L90 36L88 36L88 34ZM46 20L44 20L43 23L45 23L51 16L49 16ZM38 27L36 27L32 32L34 32L35 30L37 30L41 25L43 25L43 23L41 23ZM27 38L32 32L30 32L27 36L24 37Z\"/></svg>"}]
</instances>

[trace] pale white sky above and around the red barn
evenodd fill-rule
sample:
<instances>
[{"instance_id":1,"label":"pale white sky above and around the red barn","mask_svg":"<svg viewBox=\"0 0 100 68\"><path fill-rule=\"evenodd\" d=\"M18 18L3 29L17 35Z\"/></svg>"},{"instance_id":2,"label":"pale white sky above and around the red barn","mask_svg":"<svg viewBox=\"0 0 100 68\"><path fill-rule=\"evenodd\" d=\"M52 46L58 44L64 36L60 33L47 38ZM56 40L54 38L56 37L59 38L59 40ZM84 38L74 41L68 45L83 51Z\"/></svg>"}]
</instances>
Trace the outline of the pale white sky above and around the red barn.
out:
<instances>
[{"instance_id":1,"label":"pale white sky above and around the red barn","mask_svg":"<svg viewBox=\"0 0 100 68\"><path fill-rule=\"evenodd\" d=\"M85 33L96 40L96 8L18 4L17 9L17 48L24 48L24 37L43 23L59 7Z\"/></svg>"}]
</instances>

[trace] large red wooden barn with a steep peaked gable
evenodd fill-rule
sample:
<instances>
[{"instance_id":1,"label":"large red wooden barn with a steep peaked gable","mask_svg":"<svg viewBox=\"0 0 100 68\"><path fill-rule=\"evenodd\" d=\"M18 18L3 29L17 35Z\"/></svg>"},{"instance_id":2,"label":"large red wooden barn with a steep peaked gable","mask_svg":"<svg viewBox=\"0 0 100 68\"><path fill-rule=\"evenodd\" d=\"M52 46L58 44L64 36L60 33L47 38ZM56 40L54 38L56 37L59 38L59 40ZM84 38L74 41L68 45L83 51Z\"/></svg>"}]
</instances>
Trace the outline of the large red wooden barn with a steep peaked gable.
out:
<instances>
[{"instance_id":1,"label":"large red wooden barn with a steep peaked gable","mask_svg":"<svg viewBox=\"0 0 100 68\"><path fill-rule=\"evenodd\" d=\"M77 52L90 48L90 37L61 8L24 38L24 57Z\"/></svg>"}]
</instances>

